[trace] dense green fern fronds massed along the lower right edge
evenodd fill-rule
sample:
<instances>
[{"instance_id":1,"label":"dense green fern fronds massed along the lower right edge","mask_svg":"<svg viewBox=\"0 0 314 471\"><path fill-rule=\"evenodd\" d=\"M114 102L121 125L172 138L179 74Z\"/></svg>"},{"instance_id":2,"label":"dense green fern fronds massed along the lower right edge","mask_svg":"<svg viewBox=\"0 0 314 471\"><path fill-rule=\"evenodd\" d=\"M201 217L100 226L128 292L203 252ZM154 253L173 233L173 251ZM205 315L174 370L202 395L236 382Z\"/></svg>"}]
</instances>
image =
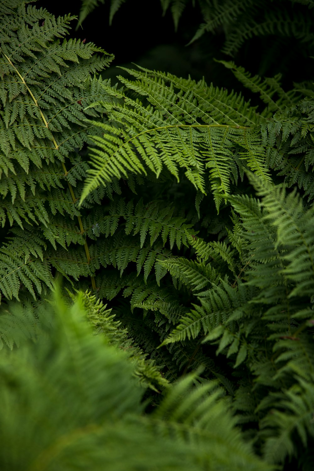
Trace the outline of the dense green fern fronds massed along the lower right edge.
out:
<instances>
[{"instance_id":1,"label":"dense green fern fronds massed along the lower right edge","mask_svg":"<svg viewBox=\"0 0 314 471\"><path fill-rule=\"evenodd\" d=\"M229 283L212 279L215 259L205 267L204 261L194 262L196 274L183 270L179 259L161 262L199 301L163 344L201 335L201 342L216 345L216 353L230 358L234 368L244 364L242 376L256 381L252 409L258 414L249 420L258 423L266 461L282 463L287 455L298 455L300 447L305 449L314 435L313 206L305 210L295 191L287 195L282 186L253 175L250 180L260 200L247 195L228 198L247 240L242 281L239 276L232 285L231 277ZM204 243L194 244L208 260L198 249ZM197 292L206 282L209 288ZM243 400L241 392L247 394L238 390L236 408Z\"/></svg>"}]
</instances>

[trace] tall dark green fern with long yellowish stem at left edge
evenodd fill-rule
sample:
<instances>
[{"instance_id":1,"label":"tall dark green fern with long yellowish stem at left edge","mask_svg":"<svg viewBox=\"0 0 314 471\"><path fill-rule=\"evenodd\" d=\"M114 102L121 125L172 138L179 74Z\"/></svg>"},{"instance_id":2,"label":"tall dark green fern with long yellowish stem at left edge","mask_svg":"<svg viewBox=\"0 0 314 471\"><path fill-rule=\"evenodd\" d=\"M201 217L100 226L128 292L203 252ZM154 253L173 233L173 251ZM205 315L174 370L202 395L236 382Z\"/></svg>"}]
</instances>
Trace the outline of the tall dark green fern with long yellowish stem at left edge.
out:
<instances>
[{"instance_id":1,"label":"tall dark green fern with long yellowish stem at left edge","mask_svg":"<svg viewBox=\"0 0 314 471\"><path fill-rule=\"evenodd\" d=\"M45 9L26 7L24 2L1 8L0 218L1 226L8 220L18 236L1 248L0 284L7 298L18 299L21 283L33 297L44 284L52 286L49 257L43 258L40 245L49 252L50 244L56 249L58 239L65 248L78 242L77 232L83 233L72 185L86 174L86 165L80 171L68 172L67 167L73 162L78 169L74 149L81 149L89 140L86 115L99 116L96 108L88 112L82 108L82 102L88 106L102 93L102 80L92 79L91 74L109 65L112 57L92 43L66 41L64 35L74 18L70 15L56 19ZM60 224L59 214L65 213L78 218L80 231L72 229L72 239L69 226ZM16 232L16 224L26 230L26 237ZM34 224L38 231L31 242L28 231ZM88 246L81 239L80 243L85 245L89 263ZM70 272L67 264L55 266L66 274Z\"/></svg>"}]
</instances>

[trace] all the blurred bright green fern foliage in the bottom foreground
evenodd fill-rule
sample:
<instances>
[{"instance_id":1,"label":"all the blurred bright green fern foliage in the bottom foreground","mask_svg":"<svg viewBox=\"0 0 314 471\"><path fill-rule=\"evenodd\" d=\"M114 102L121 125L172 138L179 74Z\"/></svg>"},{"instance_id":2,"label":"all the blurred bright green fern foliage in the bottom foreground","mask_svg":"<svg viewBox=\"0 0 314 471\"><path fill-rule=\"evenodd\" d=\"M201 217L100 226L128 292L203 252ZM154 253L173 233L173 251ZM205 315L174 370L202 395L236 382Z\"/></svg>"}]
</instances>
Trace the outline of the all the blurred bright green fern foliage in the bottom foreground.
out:
<instances>
[{"instance_id":1,"label":"all the blurred bright green fern foliage in the bottom foreground","mask_svg":"<svg viewBox=\"0 0 314 471\"><path fill-rule=\"evenodd\" d=\"M145 414L134 366L105 341L113 327L110 317L102 309L105 337L93 336L84 319L87 304L94 318L94 301L79 294L67 307L56 293L47 309L51 325L35 342L1 355L3 470L272 469L235 428L224 391L213 382L192 387L196 374L177 382L161 405ZM23 309L18 316L24 317Z\"/></svg>"}]
</instances>

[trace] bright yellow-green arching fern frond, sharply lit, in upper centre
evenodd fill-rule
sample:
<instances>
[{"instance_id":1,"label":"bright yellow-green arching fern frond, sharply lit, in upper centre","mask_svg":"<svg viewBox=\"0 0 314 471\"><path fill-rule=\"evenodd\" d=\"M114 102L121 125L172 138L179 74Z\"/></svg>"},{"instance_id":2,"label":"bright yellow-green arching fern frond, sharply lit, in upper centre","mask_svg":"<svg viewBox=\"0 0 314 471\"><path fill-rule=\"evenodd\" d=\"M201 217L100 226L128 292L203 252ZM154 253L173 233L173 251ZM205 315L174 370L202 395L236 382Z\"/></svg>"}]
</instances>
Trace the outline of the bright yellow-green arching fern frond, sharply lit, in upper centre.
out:
<instances>
[{"instance_id":1,"label":"bright yellow-green arching fern frond, sharply lit, in upper centre","mask_svg":"<svg viewBox=\"0 0 314 471\"><path fill-rule=\"evenodd\" d=\"M213 87L207 89L203 81L196 84L191 79L184 81L170 74L166 77L147 69L126 70L137 80L119 77L122 83L151 105L144 106L139 98L134 100L117 89L105 88L116 101L102 103L113 125L98 124L103 136L93 138L97 146L90 154L93 168L80 202L91 190L106 185L113 177L146 175L145 167L158 177L165 166L177 181L178 167L184 168L187 179L202 193L205 192L204 174L210 168L209 181L218 208L221 195L229 193L230 179L237 181L234 154L238 149L240 158L252 171L269 179L254 127L252 131L243 125L248 120L254 125L256 119L250 119L252 110L242 98L234 94L228 97ZM228 98L231 103L226 103ZM233 104L237 105L236 113ZM97 126L96 122L91 124Z\"/></svg>"}]
</instances>

